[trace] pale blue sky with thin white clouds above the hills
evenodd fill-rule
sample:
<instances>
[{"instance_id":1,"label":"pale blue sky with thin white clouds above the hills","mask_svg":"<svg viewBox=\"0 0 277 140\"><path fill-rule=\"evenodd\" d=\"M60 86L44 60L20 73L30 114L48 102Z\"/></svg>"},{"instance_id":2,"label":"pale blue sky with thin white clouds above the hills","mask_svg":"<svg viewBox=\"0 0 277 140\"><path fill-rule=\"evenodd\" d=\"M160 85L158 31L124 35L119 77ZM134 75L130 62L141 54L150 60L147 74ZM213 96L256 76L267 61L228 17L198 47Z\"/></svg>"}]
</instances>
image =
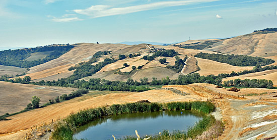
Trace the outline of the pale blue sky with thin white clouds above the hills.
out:
<instances>
[{"instance_id":1,"label":"pale blue sky with thin white clouds above the hills","mask_svg":"<svg viewBox=\"0 0 277 140\"><path fill-rule=\"evenodd\" d=\"M0 49L228 38L277 27L277 1L0 0Z\"/></svg>"}]
</instances>

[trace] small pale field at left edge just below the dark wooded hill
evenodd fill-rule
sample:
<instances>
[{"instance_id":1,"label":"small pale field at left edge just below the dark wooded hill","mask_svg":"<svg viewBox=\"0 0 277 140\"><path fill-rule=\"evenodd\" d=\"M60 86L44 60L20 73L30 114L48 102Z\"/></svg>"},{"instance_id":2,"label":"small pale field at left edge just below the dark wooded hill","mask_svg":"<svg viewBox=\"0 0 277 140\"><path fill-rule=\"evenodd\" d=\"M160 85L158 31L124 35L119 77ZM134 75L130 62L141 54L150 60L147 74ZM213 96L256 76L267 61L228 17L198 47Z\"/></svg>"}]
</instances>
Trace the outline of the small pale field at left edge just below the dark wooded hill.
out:
<instances>
[{"instance_id":1,"label":"small pale field at left edge just below the dark wooded hill","mask_svg":"<svg viewBox=\"0 0 277 140\"><path fill-rule=\"evenodd\" d=\"M8 74L15 76L17 74L22 74L23 72L27 72L27 69L0 65L0 75Z\"/></svg>"}]
</instances>

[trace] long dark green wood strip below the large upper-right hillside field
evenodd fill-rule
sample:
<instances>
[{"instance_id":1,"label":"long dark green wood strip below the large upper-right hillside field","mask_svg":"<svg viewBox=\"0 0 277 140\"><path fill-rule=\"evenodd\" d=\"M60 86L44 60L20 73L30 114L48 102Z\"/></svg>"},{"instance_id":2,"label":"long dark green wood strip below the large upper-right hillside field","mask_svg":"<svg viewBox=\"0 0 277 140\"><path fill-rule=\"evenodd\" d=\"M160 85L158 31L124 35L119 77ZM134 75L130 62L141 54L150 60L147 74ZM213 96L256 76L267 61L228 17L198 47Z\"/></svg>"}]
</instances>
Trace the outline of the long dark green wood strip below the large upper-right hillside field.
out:
<instances>
[{"instance_id":1,"label":"long dark green wood strip below the large upper-right hillside field","mask_svg":"<svg viewBox=\"0 0 277 140\"><path fill-rule=\"evenodd\" d=\"M233 66L264 66L268 64L272 64L275 61L272 59L265 59L261 57L252 57L246 55L223 55L223 54L209 54L209 53L198 53L195 57L210 59L222 63L227 63Z\"/></svg>"}]
</instances>

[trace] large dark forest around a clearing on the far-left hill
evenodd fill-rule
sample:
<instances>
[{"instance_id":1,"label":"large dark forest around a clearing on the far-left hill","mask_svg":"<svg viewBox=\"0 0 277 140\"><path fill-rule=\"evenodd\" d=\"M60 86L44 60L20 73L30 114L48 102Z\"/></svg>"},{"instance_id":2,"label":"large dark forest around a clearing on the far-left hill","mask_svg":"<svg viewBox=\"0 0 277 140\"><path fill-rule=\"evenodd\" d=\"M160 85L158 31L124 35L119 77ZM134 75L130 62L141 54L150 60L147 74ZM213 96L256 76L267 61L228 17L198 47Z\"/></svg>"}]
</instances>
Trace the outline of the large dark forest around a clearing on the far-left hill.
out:
<instances>
[{"instance_id":1,"label":"large dark forest around a clearing on the far-left hill","mask_svg":"<svg viewBox=\"0 0 277 140\"><path fill-rule=\"evenodd\" d=\"M60 57L62 54L70 51L74 46L51 46L51 47L36 47L29 49L5 50L0 51L0 65L16 66L21 68L30 68L39 64L43 64L50 60ZM31 53L52 51L44 59L26 61L25 59L31 56Z\"/></svg>"}]
</instances>

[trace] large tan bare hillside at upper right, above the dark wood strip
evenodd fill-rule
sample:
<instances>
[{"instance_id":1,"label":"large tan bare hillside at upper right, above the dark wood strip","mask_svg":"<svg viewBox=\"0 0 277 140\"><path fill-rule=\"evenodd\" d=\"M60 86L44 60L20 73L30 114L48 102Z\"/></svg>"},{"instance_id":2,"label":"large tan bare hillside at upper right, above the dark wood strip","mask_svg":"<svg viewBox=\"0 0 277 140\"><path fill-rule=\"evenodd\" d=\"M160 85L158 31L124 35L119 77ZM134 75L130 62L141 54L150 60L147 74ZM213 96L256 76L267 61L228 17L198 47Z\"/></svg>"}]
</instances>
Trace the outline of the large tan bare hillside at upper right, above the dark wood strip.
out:
<instances>
[{"instance_id":1,"label":"large tan bare hillside at upper right, above the dark wood strip","mask_svg":"<svg viewBox=\"0 0 277 140\"><path fill-rule=\"evenodd\" d=\"M228 54L240 54L258 57L275 56L277 53L277 33L251 33L234 37L214 44L211 51L220 51Z\"/></svg>"}]
</instances>

